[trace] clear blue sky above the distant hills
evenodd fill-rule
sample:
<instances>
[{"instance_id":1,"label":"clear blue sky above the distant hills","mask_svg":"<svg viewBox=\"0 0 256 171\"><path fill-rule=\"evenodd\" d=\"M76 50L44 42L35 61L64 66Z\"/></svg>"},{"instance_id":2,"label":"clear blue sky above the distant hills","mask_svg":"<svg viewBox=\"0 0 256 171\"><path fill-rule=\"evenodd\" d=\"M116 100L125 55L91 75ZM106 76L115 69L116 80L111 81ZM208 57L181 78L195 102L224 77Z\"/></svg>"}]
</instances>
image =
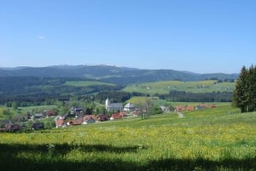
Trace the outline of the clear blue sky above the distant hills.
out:
<instances>
[{"instance_id":1,"label":"clear blue sky above the distant hills","mask_svg":"<svg viewBox=\"0 0 256 171\"><path fill-rule=\"evenodd\" d=\"M0 0L0 67L255 65L256 1Z\"/></svg>"}]
</instances>

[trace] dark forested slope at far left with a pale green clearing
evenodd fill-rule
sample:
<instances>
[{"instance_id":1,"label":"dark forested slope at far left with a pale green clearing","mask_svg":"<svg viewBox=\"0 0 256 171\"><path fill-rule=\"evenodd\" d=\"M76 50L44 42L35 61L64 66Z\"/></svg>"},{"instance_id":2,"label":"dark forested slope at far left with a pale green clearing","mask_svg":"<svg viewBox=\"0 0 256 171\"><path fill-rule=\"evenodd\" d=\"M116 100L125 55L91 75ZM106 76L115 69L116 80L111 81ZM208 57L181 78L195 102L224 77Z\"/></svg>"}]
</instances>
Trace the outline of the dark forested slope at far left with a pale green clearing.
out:
<instances>
[{"instance_id":1,"label":"dark forested slope at far left with a pale green clearing","mask_svg":"<svg viewBox=\"0 0 256 171\"><path fill-rule=\"evenodd\" d=\"M0 104L17 107L30 105L55 105L55 101L84 97L100 91L116 91L120 86L84 78L70 77L0 77Z\"/></svg>"}]
</instances>

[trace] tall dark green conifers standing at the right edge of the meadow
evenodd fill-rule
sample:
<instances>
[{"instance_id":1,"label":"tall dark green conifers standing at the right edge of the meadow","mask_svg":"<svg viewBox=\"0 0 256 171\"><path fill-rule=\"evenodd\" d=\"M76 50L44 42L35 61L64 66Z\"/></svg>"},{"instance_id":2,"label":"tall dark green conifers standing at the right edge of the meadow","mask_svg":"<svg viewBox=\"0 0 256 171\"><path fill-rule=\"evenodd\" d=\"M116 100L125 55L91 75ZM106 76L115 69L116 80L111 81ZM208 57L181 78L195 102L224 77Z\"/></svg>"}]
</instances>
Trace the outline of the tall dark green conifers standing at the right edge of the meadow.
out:
<instances>
[{"instance_id":1,"label":"tall dark green conifers standing at the right edge of the meadow","mask_svg":"<svg viewBox=\"0 0 256 171\"><path fill-rule=\"evenodd\" d=\"M241 68L232 102L241 112L256 110L256 66Z\"/></svg>"}]
</instances>

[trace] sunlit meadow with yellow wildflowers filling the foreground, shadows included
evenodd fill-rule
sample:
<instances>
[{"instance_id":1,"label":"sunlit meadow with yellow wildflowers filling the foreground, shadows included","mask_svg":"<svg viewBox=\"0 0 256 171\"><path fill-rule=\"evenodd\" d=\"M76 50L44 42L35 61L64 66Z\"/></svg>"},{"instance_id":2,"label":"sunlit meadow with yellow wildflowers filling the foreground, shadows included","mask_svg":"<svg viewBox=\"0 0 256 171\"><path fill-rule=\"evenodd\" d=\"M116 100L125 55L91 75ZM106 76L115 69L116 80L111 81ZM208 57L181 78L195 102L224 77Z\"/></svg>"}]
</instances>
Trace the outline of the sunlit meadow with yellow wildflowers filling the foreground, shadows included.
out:
<instances>
[{"instance_id":1,"label":"sunlit meadow with yellow wildflowers filling the foreground, shadows included","mask_svg":"<svg viewBox=\"0 0 256 171\"><path fill-rule=\"evenodd\" d=\"M215 109L0 134L4 170L255 170L256 113Z\"/></svg>"}]
</instances>

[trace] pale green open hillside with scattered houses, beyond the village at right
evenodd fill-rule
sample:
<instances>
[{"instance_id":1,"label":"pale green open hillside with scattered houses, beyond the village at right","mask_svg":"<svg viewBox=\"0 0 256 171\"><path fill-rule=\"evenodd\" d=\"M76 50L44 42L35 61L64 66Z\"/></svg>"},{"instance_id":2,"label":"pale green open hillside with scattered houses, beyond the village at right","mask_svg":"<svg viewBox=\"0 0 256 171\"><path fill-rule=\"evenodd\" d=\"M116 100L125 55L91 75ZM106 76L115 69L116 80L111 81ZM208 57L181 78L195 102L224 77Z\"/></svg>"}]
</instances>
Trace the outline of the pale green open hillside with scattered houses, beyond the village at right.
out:
<instances>
[{"instance_id":1,"label":"pale green open hillside with scattered houses, beyond the village at right","mask_svg":"<svg viewBox=\"0 0 256 171\"><path fill-rule=\"evenodd\" d=\"M200 82L165 81L140 83L125 87L126 92L141 92L144 94L168 94L170 91L185 91L190 93L232 92L236 83L216 83L214 80Z\"/></svg>"}]
</instances>

